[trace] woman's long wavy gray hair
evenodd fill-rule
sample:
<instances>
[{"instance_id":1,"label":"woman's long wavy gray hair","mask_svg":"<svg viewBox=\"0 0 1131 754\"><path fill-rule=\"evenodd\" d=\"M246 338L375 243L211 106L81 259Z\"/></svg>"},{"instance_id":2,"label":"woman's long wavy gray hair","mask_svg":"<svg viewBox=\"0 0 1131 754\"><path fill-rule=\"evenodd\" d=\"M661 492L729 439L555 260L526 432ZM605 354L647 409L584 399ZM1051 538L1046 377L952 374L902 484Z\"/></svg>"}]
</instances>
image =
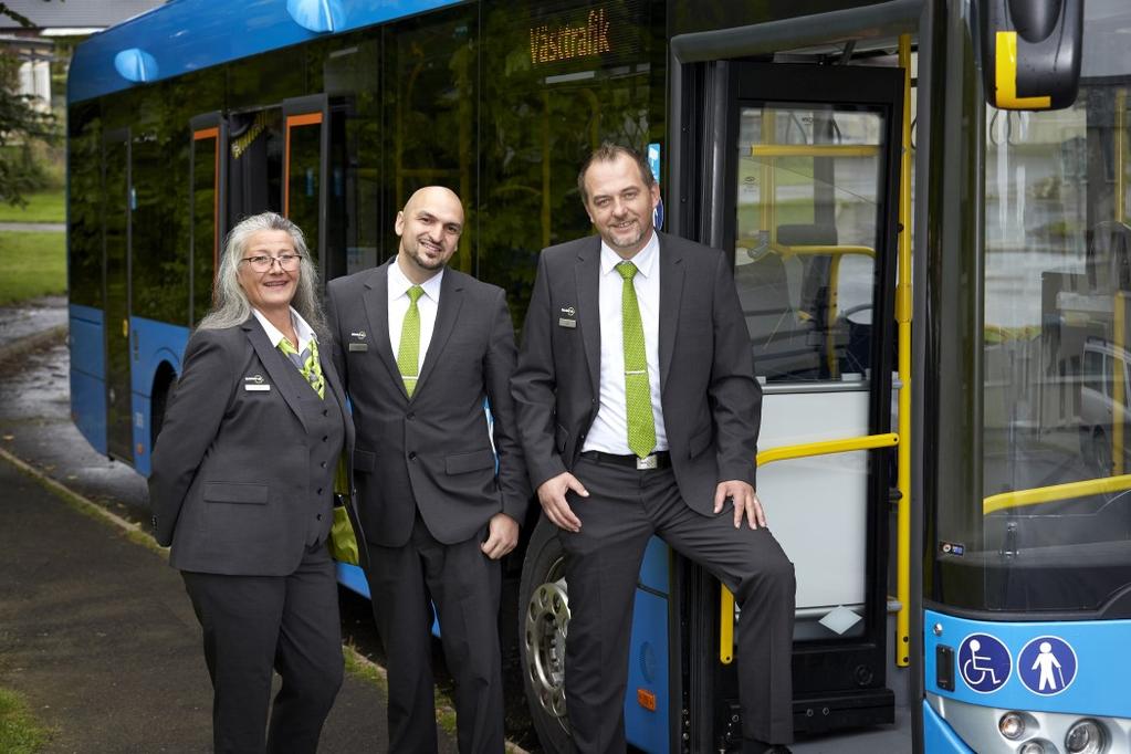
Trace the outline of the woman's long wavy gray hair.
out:
<instances>
[{"instance_id":1,"label":"woman's long wavy gray hair","mask_svg":"<svg viewBox=\"0 0 1131 754\"><path fill-rule=\"evenodd\" d=\"M240 285L240 261L247 252L248 241L261 231L285 231L291 236L295 253L299 254L299 285L295 287L291 305L307 320L311 329L323 343L326 340L326 314L318 301L318 269L310 261L310 251L302 229L275 213L261 213L244 217L227 234L224 253L219 258L219 272L213 289L213 307L197 327L201 330L221 330L243 324L251 317L251 302Z\"/></svg>"}]
</instances>

